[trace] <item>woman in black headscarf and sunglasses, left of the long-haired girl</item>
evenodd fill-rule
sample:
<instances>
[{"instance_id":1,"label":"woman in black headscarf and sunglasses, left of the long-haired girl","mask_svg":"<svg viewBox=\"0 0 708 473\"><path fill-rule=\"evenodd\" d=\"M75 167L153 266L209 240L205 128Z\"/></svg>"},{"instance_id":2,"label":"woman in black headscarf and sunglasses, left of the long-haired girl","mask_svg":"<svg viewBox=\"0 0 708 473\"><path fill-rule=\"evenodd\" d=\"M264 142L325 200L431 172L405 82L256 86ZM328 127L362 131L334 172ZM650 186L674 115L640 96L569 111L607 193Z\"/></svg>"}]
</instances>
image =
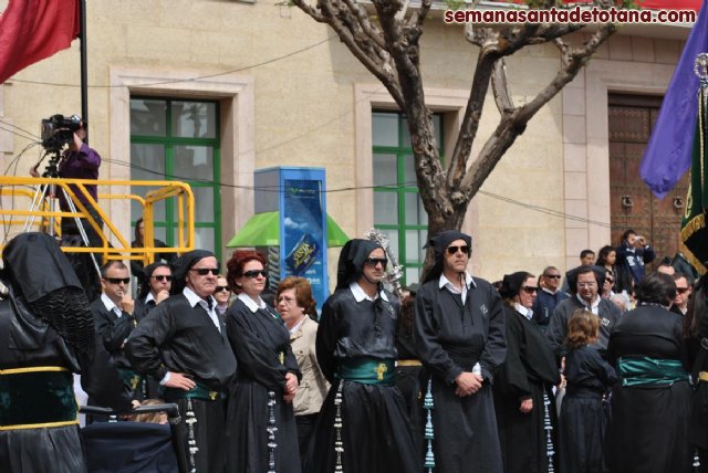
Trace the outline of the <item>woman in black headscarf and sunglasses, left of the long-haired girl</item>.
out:
<instances>
[{"instance_id":1,"label":"woman in black headscarf and sunglasses, left of the long-haired girl","mask_svg":"<svg viewBox=\"0 0 708 473\"><path fill-rule=\"evenodd\" d=\"M504 473L549 470L544 423L554 420L554 410L545 399L552 398L560 374L551 346L533 322L538 291L535 276L524 271L507 274L500 290L507 361L494 378L493 392Z\"/></svg>"}]
</instances>

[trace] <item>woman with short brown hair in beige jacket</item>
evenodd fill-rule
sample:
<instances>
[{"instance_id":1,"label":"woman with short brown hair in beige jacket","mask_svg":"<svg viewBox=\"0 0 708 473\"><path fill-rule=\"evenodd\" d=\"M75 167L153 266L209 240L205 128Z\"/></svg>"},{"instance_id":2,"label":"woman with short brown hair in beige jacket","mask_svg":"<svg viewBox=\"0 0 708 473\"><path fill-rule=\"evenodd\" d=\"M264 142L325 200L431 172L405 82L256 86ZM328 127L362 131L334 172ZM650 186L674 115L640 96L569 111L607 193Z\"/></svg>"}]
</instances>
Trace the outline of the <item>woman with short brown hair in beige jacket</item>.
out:
<instances>
[{"instance_id":1,"label":"woman with short brown hair in beige jacket","mask_svg":"<svg viewBox=\"0 0 708 473\"><path fill-rule=\"evenodd\" d=\"M290 330L290 346L298 359L302 380L293 399L300 455L304 458L314 425L327 396L330 383L317 364L315 340L317 338L317 316L312 287L304 277L285 277L275 293L278 313Z\"/></svg>"}]
</instances>

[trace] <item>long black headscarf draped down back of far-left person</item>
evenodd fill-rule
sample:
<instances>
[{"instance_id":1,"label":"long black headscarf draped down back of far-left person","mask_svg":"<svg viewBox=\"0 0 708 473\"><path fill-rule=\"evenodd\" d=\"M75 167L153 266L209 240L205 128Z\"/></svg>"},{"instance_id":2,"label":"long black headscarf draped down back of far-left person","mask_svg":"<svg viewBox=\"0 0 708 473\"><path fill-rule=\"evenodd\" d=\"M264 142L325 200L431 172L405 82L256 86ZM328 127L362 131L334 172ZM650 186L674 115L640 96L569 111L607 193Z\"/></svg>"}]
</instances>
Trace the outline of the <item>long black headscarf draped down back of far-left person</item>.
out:
<instances>
[{"instance_id":1,"label":"long black headscarf draped down back of far-left person","mask_svg":"<svg viewBox=\"0 0 708 473\"><path fill-rule=\"evenodd\" d=\"M46 326L32 323L32 316L51 325L59 335L77 351L93 355L93 314L71 263L53 236L45 233L22 233L12 239L2 252L3 278L10 284L10 294L18 307L22 301L32 314L18 312L18 320L27 323L25 333L15 332L10 337L28 340L29 332L34 341L44 340ZM38 346L39 347L39 346Z\"/></svg>"}]
</instances>

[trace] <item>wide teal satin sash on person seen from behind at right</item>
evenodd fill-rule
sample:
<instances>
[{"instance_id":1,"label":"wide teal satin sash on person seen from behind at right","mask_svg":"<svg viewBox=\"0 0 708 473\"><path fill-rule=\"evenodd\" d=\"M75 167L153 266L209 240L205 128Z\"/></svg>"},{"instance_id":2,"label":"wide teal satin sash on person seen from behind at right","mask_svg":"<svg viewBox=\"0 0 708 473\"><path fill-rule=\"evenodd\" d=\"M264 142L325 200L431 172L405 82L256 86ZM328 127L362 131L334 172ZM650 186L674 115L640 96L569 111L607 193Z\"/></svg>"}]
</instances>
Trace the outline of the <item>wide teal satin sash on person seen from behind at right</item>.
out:
<instances>
[{"instance_id":1,"label":"wide teal satin sash on person seen from behind at right","mask_svg":"<svg viewBox=\"0 0 708 473\"><path fill-rule=\"evenodd\" d=\"M622 386L663 386L688 381L688 372L676 359L622 357L617 360Z\"/></svg>"}]
</instances>

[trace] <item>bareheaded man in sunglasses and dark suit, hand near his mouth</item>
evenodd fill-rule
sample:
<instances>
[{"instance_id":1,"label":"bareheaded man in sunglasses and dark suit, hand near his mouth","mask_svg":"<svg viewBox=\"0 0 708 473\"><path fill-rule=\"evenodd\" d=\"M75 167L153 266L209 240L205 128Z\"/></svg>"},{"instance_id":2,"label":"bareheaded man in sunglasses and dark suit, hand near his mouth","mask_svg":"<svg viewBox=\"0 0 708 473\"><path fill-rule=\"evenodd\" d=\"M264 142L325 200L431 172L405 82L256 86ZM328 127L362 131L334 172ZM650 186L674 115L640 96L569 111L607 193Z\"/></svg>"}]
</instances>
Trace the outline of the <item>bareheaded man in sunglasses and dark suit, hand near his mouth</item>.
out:
<instances>
[{"instance_id":1,"label":"bareheaded man in sunglasses and dark suit, hand near his mouth","mask_svg":"<svg viewBox=\"0 0 708 473\"><path fill-rule=\"evenodd\" d=\"M96 333L111 354L123 381L134 399L143 399L143 378L135 372L123 353L125 340L135 328L134 302L129 294L131 274L121 261L110 261L101 269L101 297L91 304ZM90 403L92 401L90 400Z\"/></svg>"}]
</instances>

